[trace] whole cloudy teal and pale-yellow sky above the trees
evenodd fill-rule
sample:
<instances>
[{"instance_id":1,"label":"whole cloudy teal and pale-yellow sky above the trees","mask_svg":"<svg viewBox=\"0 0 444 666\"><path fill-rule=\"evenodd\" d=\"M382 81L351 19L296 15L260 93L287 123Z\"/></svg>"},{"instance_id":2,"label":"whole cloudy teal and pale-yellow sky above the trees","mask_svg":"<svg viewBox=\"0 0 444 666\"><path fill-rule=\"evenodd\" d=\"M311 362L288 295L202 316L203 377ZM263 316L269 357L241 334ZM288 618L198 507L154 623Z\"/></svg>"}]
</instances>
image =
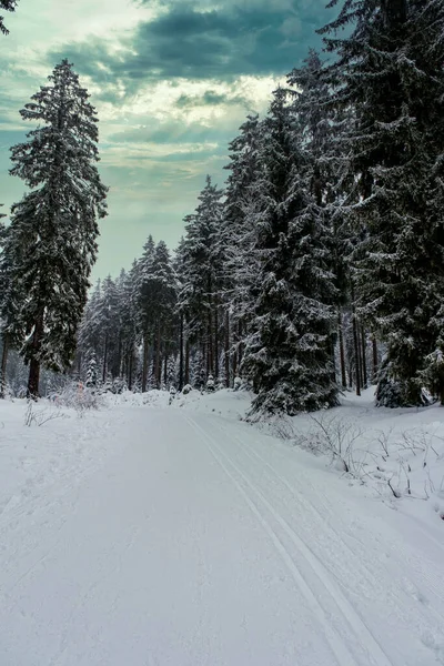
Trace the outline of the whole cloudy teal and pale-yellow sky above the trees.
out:
<instances>
[{"instance_id":1,"label":"whole cloudy teal and pale-yellow sky above the trees","mask_svg":"<svg viewBox=\"0 0 444 666\"><path fill-rule=\"evenodd\" d=\"M8 173L9 148L32 129L19 110L69 58L99 113L110 186L94 278L130 268L149 233L174 248L205 174L223 184L228 142L246 113L263 113L309 47L321 47L325 4L20 0L0 36L0 201L9 208L26 190Z\"/></svg>"}]
</instances>

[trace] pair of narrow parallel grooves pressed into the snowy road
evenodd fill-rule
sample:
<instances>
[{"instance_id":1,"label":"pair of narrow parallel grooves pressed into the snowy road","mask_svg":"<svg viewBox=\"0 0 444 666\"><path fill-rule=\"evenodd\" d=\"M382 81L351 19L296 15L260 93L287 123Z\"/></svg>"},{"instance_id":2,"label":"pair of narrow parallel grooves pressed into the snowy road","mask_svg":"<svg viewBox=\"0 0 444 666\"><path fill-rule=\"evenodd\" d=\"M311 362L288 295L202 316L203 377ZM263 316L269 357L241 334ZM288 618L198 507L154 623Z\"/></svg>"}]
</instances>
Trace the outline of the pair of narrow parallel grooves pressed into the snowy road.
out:
<instances>
[{"instance_id":1,"label":"pair of narrow parallel grooves pressed into the snowy road","mask_svg":"<svg viewBox=\"0 0 444 666\"><path fill-rule=\"evenodd\" d=\"M281 555L282 559L286 564L290 573L292 574L293 579L295 581L297 587L301 589L302 594L305 596L305 599L312 607L315 613L317 620L322 625L326 639L329 642L330 647L332 648L333 654L336 657L340 666L352 666L356 664L355 658L351 655L347 646L345 645L344 638L337 633L337 630L332 626L329 619L329 613L322 606L321 602L316 597L314 591L310 587L306 581L302 577L297 565L292 557L291 553L287 551L285 545L282 543L281 538L276 534L275 529L271 526L270 522L265 518L265 516L260 512L256 504L253 502L251 494L246 491L245 486L249 488L253 496L259 500L259 502L268 509L268 512L273 516L275 522L280 525L282 531L286 534L293 545L296 547L297 552L302 555L306 564L310 565L311 569L317 577L317 579L323 584L325 591L329 593L330 597L333 599L334 604L337 606L344 619L347 622L349 626L352 628L354 634L356 635L360 645L366 652L369 658L372 659L372 663L375 666L393 666L389 656L382 649L380 644L376 642L369 627L364 624L361 617L357 615L356 610L353 608L351 603L345 598L341 589L330 578L329 572L321 564L321 562L316 558L316 556L311 552L311 549L306 546L306 544L297 536L294 529L289 525L289 523L281 516L281 514L276 511L276 508L269 502L269 500L263 495L260 488L252 483L249 477L240 470L240 467L230 458L230 456L220 447L218 442L214 440L212 435L206 433L203 427L201 427L192 417L184 415L184 420L189 425L201 435L201 437L206 443L206 446L213 457L216 460L219 465L225 472L225 474L230 477L232 483L236 486L241 495L244 497L246 504L249 505L252 513L256 516L262 527L270 536L273 542L276 551ZM243 484L240 483L230 468L226 466L225 462L230 465L230 467L239 475L242 480Z\"/></svg>"}]
</instances>

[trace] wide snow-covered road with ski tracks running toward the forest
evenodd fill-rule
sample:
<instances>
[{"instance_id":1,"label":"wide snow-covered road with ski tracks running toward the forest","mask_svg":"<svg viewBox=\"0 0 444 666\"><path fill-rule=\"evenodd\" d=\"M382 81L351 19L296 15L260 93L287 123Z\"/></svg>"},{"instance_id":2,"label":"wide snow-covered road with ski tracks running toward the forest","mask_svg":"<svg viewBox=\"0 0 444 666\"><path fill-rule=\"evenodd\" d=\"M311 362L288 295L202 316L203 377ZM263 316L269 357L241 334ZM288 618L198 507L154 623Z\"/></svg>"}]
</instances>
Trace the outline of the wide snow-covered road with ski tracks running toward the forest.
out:
<instances>
[{"instance_id":1,"label":"wide snow-covered road with ski tracks running toward the forest","mask_svg":"<svg viewBox=\"0 0 444 666\"><path fill-rule=\"evenodd\" d=\"M108 418L0 516L2 666L444 664L444 539L245 424Z\"/></svg>"}]
</instances>

